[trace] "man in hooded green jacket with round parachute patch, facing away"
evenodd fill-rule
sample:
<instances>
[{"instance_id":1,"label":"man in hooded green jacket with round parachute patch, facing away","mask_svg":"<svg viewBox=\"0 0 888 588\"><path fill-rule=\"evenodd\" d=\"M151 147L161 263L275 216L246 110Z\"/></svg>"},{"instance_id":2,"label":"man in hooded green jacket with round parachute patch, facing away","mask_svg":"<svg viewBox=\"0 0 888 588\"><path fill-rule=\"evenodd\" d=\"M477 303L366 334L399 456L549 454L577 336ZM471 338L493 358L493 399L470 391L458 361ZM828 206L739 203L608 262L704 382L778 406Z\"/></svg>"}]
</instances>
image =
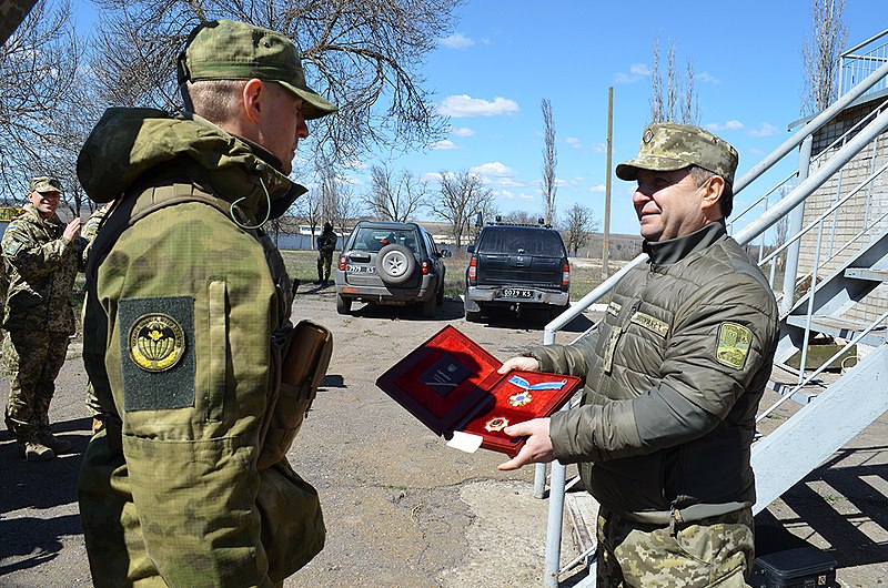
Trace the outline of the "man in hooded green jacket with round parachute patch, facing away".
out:
<instances>
[{"instance_id":1,"label":"man in hooded green jacket with round parachute patch, facing away","mask_svg":"<svg viewBox=\"0 0 888 588\"><path fill-rule=\"evenodd\" d=\"M325 530L315 489L263 457L293 288L261 226L305 193L305 121L336 108L290 39L242 22L195 28L178 74L191 112L110 109L78 159L113 201L87 267L90 568L98 587L282 586Z\"/></svg>"}]
</instances>

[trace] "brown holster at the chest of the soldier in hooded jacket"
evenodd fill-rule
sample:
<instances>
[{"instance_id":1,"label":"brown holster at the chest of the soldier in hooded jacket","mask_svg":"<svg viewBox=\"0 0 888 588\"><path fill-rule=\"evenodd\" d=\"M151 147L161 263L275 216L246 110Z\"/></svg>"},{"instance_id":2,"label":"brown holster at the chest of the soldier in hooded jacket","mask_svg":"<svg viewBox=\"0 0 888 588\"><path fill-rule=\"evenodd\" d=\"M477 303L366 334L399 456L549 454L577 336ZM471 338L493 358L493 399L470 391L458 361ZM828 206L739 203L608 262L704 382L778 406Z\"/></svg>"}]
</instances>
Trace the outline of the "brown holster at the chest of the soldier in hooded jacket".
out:
<instances>
[{"instance_id":1,"label":"brown holster at the chest of the soldier in hooded jacket","mask_svg":"<svg viewBox=\"0 0 888 588\"><path fill-rule=\"evenodd\" d=\"M290 450L324 382L332 353L333 335L307 320L300 321L283 345L272 342L275 384L260 433L260 470L276 464Z\"/></svg>"}]
</instances>

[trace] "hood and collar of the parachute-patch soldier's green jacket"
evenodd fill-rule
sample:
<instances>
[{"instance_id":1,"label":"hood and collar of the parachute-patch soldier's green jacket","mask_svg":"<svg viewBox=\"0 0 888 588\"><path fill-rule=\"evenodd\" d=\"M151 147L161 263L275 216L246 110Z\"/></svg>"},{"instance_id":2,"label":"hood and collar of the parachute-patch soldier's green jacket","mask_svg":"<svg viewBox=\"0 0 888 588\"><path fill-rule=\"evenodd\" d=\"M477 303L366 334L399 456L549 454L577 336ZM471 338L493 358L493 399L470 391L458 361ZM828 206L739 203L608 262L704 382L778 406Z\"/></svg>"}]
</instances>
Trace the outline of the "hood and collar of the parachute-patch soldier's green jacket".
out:
<instances>
[{"instance_id":1,"label":"hood and collar of the parachute-patch soldier's green jacket","mask_svg":"<svg viewBox=\"0 0 888 588\"><path fill-rule=\"evenodd\" d=\"M252 219L281 216L307 190L290 181L239 136L195 114L155 109L108 109L77 161L80 183L99 203L111 202L152 170L181 173Z\"/></svg>"}]
</instances>

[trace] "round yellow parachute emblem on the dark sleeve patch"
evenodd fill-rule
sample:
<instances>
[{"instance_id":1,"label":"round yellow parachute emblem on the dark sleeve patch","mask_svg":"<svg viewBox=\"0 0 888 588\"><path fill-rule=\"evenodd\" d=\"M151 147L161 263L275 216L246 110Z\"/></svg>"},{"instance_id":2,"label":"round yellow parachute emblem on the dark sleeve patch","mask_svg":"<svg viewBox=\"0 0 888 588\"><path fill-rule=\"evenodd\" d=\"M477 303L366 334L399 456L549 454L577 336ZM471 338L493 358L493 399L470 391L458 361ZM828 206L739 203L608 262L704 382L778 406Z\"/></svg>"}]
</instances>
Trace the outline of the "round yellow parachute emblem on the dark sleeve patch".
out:
<instances>
[{"instance_id":1,"label":"round yellow parachute emblem on the dark sleeve patch","mask_svg":"<svg viewBox=\"0 0 888 588\"><path fill-rule=\"evenodd\" d=\"M163 313L140 316L130 328L130 358L145 372L165 372L185 354L185 334Z\"/></svg>"}]
</instances>

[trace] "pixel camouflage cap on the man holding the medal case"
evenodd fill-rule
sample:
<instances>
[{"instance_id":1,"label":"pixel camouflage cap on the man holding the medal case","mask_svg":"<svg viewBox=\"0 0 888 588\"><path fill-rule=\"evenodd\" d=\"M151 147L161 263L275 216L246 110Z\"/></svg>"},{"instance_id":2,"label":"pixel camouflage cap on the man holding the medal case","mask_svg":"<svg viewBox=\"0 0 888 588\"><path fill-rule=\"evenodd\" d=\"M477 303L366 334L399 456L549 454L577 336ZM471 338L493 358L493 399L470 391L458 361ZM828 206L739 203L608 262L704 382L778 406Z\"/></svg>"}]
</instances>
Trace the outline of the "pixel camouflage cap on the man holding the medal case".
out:
<instances>
[{"instance_id":1,"label":"pixel camouflage cap on the man holding the medal case","mask_svg":"<svg viewBox=\"0 0 888 588\"><path fill-rule=\"evenodd\" d=\"M677 122L648 124L638 155L617 165L617 178L635 180L638 170L669 172L698 165L734 183L737 150L709 131Z\"/></svg>"}]
</instances>

